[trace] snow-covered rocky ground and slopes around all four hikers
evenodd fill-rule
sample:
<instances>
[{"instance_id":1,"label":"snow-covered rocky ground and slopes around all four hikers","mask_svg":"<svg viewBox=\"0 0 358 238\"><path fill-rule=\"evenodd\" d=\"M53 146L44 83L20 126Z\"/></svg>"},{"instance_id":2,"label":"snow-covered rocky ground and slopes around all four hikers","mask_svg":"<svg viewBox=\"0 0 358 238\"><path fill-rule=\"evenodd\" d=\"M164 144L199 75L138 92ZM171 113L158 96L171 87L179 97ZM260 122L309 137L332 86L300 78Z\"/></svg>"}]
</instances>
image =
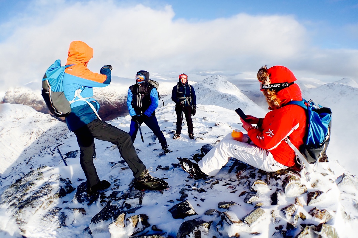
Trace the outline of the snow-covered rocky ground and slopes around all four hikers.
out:
<instances>
[{"instance_id":1,"label":"snow-covered rocky ground and slopes around all four hikers","mask_svg":"<svg viewBox=\"0 0 358 238\"><path fill-rule=\"evenodd\" d=\"M153 133L146 126L142 126L145 143L141 142L139 136L137 137L134 143L137 153L147 168L153 168L152 171L155 172L152 173L153 176L168 178L170 188L163 193L147 191L141 202L126 200L132 208L137 209L132 214L127 212L126 218L135 214L146 214L149 217L150 227L138 235L145 232L147 235L154 233L152 226L156 225L163 231L159 233L165 233L163 237L176 237L184 221L200 218L212 222L209 233L202 232L202 237L228 237L236 233L240 234L240 237L272 237L274 234L275 237L284 237L284 231L287 231L287 236L296 236L303 229L301 224L318 226L322 222L334 227L341 238L354 237L358 227L358 181L355 176L349 174L358 174L358 168L354 168L354 162L357 161L354 148L358 144L356 82L341 80L305 92L306 99L315 98L321 105L331 107L334 113L332 139L328 148L329 162L318 164L318 172L311 176L311 181L306 181L302 177L299 179L299 185L294 184L291 190L286 186L284 192L285 186L282 180L290 174L277 175L277 180L269 179L268 185L257 182L253 186L254 181L267 179L266 174L250 167L247 167L239 177L235 176L235 170L228 174L232 160L212 181L210 179L194 181L192 178L187 178L188 174L180 167L176 167L176 163L179 162L177 157L191 158L193 154L199 153L203 145L221 140L234 129L243 130L239 117L233 111L234 108L241 107L244 112L255 116L265 114L231 83L225 82L219 76L213 77L215 80L204 79L195 86L198 89L197 114L193 116L195 140L188 138L185 123L182 137L178 140L171 139L176 118L175 105L170 103L169 96L164 99L168 100L165 106L156 110L156 116L173 152L159 157L161 147L158 140L153 142ZM160 82L160 87L163 84ZM171 82L163 88L167 88L170 92L173 86ZM127 86L123 87L127 88ZM206 97L205 93L210 97ZM216 97L220 97L221 100L214 100ZM343 98L342 101L339 98ZM349 121L348 118L353 121ZM343 121L342 128L350 123L350 130L342 131L339 127L340 121ZM128 132L130 117L118 117L109 123ZM116 237L115 234L117 237L119 234L122 234L119 237L131 235L134 228L130 227L130 222L125 222L125 227L112 226L111 230L108 225L113 221L112 218L91 223L91 219L103 209L111 194L126 194L130 191L129 184L133 176L126 164L117 163L122 159L111 143L96 140L95 166L98 175L112 184L103 194L107 198L102 197L88 206L86 202L79 202L80 200L75 196L76 191L72 192L67 188L68 193L63 197L56 196L55 191L62 186L61 184L68 183L64 181L71 181L72 186L77 188L85 179L79 165L79 153L76 156L68 154L79 148L76 136L66 128L65 123L37 112L31 107L9 103L0 105L0 237L21 237L21 235L28 238L91 237L88 234L88 227L95 238L111 236L113 238ZM64 166L59 153L53 151L54 147L61 143L63 145L59 148L62 154L67 153L69 157L75 157L66 159L68 166ZM345 145L348 146L344 147ZM169 166L169 170L156 170L159 165ZM345 176L341 176L343 173L346 173ZM303 185L306 186L308 193L323 192L318 196L320 199L316 203L307 204L308 193L299 194L296 192L297 189L292 190L295 186ZM251 187L257 192L254 193ZM241 194L242 196L239 196ZM252 204L244 202L248 194L257 197ZM277 197L276 205L271 205L273 194ZM303 207L292 205L295 210L292 216L285 215L281 209L295 204L296 197ZM197 214L184 219L173 219L168 210L184 199L188 199ZM120 202L113 201L111 204L118 205ZM218 208L219 202L231 201L237 205L232 206L228 211ZM264 211L261 217L250 226L238 222L255 208L255 204L257 207L261 206ZM314 208L322 214L328 212L332 218L328 219L329 216L324 216L324 219L320 219L319 216L312 216ZM205 215L205 211L209 209L216 209L221 217L216 212L211 216ZM123 211L127 211L127 208L123 208ZM301 213L306 217L305 221L301 218ZM228 214L236 216L237 222L230 223L222 219ZM287 229L287 223L294 224L294 228ZM316 231L316 237L319 232Z\"/></svg>"}]
</instances>

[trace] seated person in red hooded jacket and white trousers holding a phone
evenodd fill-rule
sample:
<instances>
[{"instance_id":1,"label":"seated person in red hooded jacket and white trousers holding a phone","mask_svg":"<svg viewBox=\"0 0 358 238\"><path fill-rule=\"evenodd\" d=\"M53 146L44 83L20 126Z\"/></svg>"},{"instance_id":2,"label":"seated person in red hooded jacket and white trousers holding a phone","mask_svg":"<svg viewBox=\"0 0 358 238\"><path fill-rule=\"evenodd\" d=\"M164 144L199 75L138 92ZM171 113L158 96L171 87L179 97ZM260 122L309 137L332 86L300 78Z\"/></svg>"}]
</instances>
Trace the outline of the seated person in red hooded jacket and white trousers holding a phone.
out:
<instances>
[{"instance_id":1,"label":"seated person in red hooded jacket and white trousers holding a phone","mask_svg":"<svg viewBox=\"0 0 358 238\"><path fill-rule=\"evenodd\" d=\"M261 67L257 73L260 89L269 104L265 118L247 115L242 127L247 131L242 142L233 140L231 133L223 138L198 163L189 159L180 162L184 171L194 179L215 176L234 157L266 172L275 172L295 165L295 152L284 141L289 137L300 149L306 133L306 113L297 105L286 105L289 101L301 101L301 90L294 83L296 77L284 66ZM256 124L257 126L253 126ZM250 139L250 140L248 140ZM251 141L250 143L247 143Z\"/></svg>"}]
</instances>

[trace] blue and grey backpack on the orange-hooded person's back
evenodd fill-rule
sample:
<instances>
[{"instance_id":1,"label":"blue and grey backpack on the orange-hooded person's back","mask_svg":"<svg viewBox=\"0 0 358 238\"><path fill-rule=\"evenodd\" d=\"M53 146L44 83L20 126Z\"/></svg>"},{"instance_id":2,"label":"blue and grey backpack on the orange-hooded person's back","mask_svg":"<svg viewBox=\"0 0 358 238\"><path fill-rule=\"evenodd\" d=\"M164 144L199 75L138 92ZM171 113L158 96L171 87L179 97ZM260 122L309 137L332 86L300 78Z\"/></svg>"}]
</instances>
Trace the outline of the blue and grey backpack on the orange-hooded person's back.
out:
<instances>
[{"instance_id":1,"label":"blue and grey backpack on the orange-hooded person's back","mask_svg":"<svg viewBox=\"0 0 358 238\"><path fill-rule=\"evenodd\" d=\"M68 116L71 105L63 92L63 75L65 69L71 65L61 66L56 60L47 70L42 79L41 94L50 112L57 117Z\"/></svg>"}]
</instances>

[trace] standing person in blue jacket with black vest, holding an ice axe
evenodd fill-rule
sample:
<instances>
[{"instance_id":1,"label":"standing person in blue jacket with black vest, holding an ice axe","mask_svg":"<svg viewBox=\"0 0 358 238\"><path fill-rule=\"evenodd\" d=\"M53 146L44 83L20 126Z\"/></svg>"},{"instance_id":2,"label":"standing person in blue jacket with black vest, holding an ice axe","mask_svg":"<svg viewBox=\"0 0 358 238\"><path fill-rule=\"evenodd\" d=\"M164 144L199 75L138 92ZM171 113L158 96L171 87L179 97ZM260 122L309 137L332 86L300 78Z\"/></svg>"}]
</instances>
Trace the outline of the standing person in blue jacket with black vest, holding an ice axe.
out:
<instances>
[{"instance_id":1,"label":"standing person in blue jacket with black vest, holding an ice axe","mask_svg":"<svg viewBox=\"0 0 358 238\"><path fill-rule=\"evenodd\" d=\"M138 123L142 125L144 122L158 138L164 153L170 153L171 151L155 117L155 109L159 102L158 91L148 80L149 72L140 70L135 76L136 83L129 87L127 107L129 115L132 117L129 135L134 142L139 129Z\"/></svg>"}]
</instances>

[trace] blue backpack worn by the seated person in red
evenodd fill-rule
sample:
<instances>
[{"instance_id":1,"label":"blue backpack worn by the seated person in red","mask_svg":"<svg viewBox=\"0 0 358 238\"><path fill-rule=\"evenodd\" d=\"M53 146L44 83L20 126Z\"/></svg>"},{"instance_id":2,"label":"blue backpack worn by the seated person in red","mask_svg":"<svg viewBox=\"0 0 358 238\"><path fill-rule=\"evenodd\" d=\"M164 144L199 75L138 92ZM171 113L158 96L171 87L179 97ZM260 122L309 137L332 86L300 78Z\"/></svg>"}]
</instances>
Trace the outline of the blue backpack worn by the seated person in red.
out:
<instances>
[{"instance_id":1,"label":"blue backpack worn by the seated person in red","mask_svg":"<svg viewBox=\"0 0 358 238\"><path fill-rule=\"evenodd\" d=\"M325 155L330 138L332 111L329 107L322 107L313 100L290 101L286 105L298 105L305 109L307 116L307 132L304 145L300 151L292 145L288 138L285 141L300 158L300 164L315 163ZM294 148L293 148L294 147ZM302 156L304 158L302 158Z\"/></svg>"}]
</instances>

